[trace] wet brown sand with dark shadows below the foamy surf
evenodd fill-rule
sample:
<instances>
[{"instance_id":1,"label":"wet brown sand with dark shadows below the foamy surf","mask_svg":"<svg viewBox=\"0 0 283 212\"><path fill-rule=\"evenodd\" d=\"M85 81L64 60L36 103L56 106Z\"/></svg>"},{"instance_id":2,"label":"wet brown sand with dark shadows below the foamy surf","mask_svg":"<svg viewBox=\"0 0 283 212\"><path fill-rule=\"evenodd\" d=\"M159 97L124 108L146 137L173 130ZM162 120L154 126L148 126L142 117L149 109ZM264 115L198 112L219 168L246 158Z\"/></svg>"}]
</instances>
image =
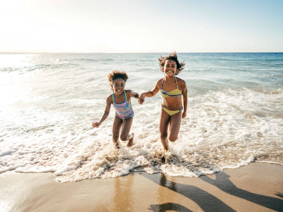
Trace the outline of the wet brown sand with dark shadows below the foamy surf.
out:
<instances>
[{"instance_id":1,"label":"wet brown sand with dark shadows below the foamy surf","mask_svg":"<svg viewBox=\"0 0 283 212\"><path fill-rule=\"evenodd\" d=\"M283 211L283 166L250 163L201 177L131 172L56 183L53 172L0 174L0 211Z\"/></svg>"}]
</instances>

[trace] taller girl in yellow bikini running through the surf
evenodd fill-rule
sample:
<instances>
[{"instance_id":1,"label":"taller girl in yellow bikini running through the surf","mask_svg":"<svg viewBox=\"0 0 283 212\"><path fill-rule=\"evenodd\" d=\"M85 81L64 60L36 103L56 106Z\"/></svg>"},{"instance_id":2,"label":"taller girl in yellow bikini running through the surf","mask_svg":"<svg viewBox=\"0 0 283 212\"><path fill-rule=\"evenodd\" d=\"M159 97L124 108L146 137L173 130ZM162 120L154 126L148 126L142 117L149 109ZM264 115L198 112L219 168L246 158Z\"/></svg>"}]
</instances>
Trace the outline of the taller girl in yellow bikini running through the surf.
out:
<instances>
[{"instance_id":1,"label":"taller girl in yellow bikini running through the surf","mask_svg":"<svg viewBox=\"0 0 283 212\"><path fill-rule=\"evenodd\" d=\"M155 83L153 90L142 93L138 101L142 104L144 97L152 97L161 91L163 101L159 122L160 140L164 149L168 149L168 139L171 142L178 139L181 119L186 117L187 112L186 82L176 77L184 69L185 63L179 63L176 52L170 53L167 57L160 56L158 60L164 78Z\"/></svg>"}]
</instances>

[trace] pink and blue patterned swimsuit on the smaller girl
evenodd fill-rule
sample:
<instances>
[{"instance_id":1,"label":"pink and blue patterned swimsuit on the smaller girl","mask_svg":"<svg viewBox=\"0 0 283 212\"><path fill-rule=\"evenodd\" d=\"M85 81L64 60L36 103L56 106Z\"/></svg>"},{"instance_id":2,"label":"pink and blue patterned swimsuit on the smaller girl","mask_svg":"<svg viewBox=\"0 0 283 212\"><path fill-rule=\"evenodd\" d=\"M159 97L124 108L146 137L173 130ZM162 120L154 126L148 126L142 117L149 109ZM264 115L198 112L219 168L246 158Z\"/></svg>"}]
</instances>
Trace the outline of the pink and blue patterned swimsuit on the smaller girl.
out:
<instances>
[{"instance_id":1,"label":"pink and blue patterned swimsuit on the smaller girl","mask_svg":"<svg viewBox=\"0 0 283 212\"><path fill-rule=\"evenodd\" d=\"M125 90L124 90L124 96L125 96L125 101L121 104L116 104L114 100L114 93L113 93L113 106L115 109L116 116L118 116L120 119L123 119L123 120L125 118L134 116L132 105L131 103L127 101Z\"/></svg>"}]
</instances>

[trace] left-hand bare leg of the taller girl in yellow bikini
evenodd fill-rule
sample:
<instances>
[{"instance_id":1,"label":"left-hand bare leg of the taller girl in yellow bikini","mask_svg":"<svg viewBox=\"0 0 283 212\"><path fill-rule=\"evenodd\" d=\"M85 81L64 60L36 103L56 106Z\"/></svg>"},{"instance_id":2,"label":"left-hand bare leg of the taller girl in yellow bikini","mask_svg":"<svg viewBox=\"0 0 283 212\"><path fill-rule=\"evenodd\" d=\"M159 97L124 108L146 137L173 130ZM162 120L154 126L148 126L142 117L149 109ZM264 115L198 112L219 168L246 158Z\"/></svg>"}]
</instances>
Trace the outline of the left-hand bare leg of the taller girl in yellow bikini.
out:
<instances>
[{"instance_id":1,"label":"left-hand bare leg of the taller girl in yellow bikini","mask_svg":"<svg viewBox=\"0 0 283 212\"><path fill-rule=\"evenodd\" d=\"M168 126L169 126L170 116L166 113L162 108L160 111L160 121L159 121L159 132L160 132L160 140L164 149L168 150Z\"/></svg>"}]
</instances>

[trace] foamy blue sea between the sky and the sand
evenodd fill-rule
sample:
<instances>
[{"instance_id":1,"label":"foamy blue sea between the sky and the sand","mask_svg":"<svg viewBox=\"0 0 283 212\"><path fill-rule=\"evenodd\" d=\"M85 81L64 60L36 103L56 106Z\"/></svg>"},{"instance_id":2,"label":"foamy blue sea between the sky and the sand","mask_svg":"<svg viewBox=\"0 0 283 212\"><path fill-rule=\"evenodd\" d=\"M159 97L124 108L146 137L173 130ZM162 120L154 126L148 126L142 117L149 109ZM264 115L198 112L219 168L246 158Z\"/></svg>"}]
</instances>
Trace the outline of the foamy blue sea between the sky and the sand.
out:
<instances>
[{"instance_id":1,"label":"foamy blue sea between the sky and the sand","mask_svg":"<svg viewBox=\"0 0 283 212\"><path fill-rule=\"evenodd\" d=\"M56 181L129 171L198 177L251 161L283 165L283 53L179 53L188 87L179 139L161 149L161 95L132 99L134 145L114 149L114 108L99 128L107 74L125 70L126 89L163 77L158 53L1 54L0 172L54 171ZM166 53L163 56L168 55ZM165 162L161 158L165 157Z\"/></svg>"}]
</instances>

